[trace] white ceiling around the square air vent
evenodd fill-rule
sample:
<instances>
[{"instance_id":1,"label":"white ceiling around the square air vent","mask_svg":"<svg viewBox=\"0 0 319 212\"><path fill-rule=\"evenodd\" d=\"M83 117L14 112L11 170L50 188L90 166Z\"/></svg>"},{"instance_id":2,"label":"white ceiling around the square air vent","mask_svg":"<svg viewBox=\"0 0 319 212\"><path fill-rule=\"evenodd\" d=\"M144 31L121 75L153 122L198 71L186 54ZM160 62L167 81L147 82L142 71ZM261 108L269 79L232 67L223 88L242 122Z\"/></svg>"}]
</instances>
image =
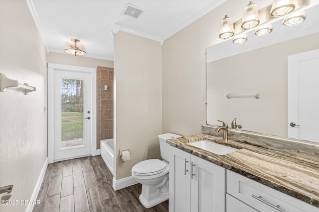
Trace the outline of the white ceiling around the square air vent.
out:
<instances>
[{"instance_id":1,"label":"white ceiling around the square air vent","mask_svg":"<svg viewBox=\"0 0 319 212\"><path fill-rule=\"evenodd\" d=\"M113 31L165 39L226 0L26 0L48 52L64 53L79 39L85 57L113 61ZM139 19L123 15L127 3L143 8Z\"/></svg>"}]
</instances>

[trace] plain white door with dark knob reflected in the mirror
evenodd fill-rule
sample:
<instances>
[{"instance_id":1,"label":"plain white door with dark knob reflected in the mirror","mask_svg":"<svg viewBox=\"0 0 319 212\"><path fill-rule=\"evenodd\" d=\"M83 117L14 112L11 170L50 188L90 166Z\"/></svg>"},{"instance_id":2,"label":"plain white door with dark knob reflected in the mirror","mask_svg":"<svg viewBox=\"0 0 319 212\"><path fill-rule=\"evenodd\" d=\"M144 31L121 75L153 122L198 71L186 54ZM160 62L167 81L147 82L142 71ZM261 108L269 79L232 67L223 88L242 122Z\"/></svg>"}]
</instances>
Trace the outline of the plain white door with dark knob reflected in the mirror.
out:
<instances>
[{"instance_id":1,"label":"plain white door with dark knob reflected in the mirror","mask_svg":"<svg viewBox=\"0 0 319 212\"><path fill-rule=\"evenodd\" d=\"M288 56L288 137L319 142L319 49Z\"/></svg>"}]
</instances>

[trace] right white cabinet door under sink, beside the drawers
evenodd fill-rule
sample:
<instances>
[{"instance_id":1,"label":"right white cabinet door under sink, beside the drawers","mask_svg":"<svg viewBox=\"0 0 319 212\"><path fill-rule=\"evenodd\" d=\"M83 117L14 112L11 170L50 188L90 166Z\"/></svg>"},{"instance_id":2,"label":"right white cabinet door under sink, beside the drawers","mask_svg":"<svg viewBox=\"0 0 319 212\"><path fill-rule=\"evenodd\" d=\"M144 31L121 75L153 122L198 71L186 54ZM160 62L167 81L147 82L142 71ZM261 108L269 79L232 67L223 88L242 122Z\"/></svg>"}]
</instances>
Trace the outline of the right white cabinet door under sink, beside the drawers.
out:
<instances>
[{"instance_id":1,"label":"right white cabinet door under sink, beside the drawers","mask_svg":"<svg viewBox=\"0 0 319 212\"><path fill-rule=\"evenodd\" d=\"M225 168L191 155L191 212L225 212Z\"/></svg>"}]
</instances>

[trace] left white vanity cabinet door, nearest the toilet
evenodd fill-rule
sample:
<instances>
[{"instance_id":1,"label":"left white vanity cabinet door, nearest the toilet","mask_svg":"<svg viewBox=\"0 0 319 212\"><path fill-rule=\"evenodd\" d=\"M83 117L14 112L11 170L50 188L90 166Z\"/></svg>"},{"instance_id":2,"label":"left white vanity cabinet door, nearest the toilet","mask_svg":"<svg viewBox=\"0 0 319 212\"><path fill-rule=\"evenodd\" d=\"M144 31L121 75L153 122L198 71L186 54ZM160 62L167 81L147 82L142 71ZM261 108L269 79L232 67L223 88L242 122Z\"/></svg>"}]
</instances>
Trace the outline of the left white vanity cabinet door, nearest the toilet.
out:
<instances>
[{"instance_id":1,"label":"left white vanity cabinet door, nearest the toilet","mask_svg":"<svg viewBox=\"0 0 319 212\"><path fill-rule=\"evenodd\" d=\"M190 212L190 154L169 147L169 211Z\"/></svg>"}]
</instances>

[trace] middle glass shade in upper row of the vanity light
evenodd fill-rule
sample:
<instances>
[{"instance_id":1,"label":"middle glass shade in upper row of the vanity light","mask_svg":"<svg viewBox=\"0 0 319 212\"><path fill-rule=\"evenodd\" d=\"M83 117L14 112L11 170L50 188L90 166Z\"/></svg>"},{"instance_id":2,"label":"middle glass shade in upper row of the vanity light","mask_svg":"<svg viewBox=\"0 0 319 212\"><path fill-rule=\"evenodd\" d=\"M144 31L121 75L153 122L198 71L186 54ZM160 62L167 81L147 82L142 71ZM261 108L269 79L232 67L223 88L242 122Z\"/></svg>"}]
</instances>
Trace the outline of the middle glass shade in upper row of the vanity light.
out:
<instances>
[{"instance_id":1,"label":"middle glass shade in upper row of the vanity light","mask_svg":"<svg viewBox=\"0 0 319 212\"><path fill-rule=\"evenodd\" d=\"M249 1L249 4L244 9L244 15L241 22L241 27L251 29L259 24L259 13L257 5Z\"/></svg>"}]
</instances>

